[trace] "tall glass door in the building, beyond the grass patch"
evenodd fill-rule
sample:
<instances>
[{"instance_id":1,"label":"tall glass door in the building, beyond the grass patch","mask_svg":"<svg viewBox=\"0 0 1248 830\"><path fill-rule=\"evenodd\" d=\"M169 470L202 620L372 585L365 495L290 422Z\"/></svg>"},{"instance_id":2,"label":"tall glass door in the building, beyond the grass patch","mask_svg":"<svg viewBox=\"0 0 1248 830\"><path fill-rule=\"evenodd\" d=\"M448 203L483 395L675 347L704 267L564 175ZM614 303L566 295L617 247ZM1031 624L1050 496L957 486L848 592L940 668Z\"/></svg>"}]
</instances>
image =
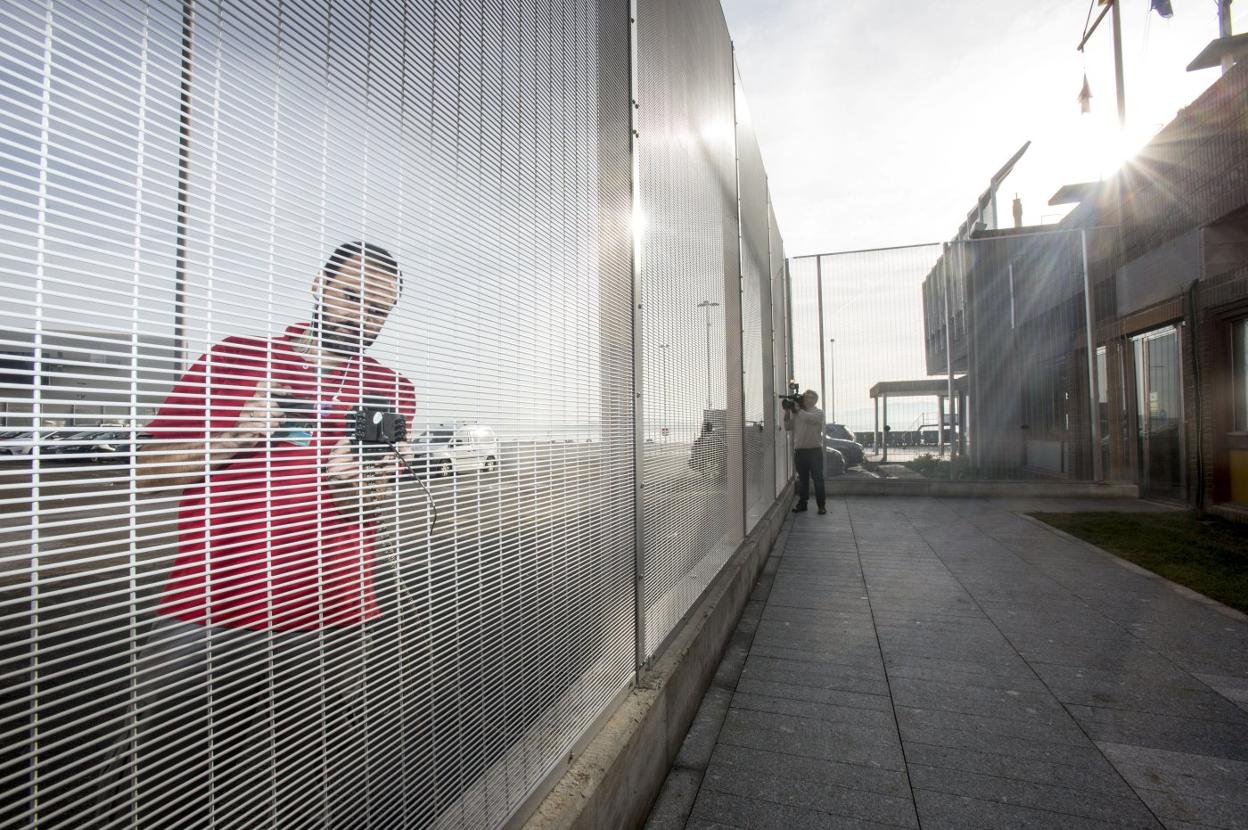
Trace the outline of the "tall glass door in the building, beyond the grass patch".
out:
<instances>
[{"instance_id":1,"label":"tall glass door in the building, beyond the grass patch","mask_svg":"<svg viewBox=\"0 0 1248 830\"><path fill-rule=\"evenodd\" d=\"M1143 496L1183 499L1183 376L1173 326L1132 338L1139 484Z\"/></svg>"}]
</instances>

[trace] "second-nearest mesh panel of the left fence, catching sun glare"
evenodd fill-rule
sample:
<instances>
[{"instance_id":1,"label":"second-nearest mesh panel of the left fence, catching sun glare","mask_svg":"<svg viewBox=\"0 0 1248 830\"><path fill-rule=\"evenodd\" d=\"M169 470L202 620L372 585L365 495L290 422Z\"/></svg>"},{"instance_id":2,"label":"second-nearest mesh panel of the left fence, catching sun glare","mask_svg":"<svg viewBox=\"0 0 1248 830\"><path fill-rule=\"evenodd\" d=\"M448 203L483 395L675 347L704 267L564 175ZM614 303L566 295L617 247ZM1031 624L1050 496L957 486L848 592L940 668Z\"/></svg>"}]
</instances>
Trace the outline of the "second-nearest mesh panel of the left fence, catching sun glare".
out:
<instances>
[{"instance_id":1,"label":"second-nearest mesh panel of the left fence, catching sun glare","mask_svg":"<svg viewBox=\"0 0 1248 830\"><path fill-rule=\"evenodd\" d=\"M733 52L719 4L640 2L638 36L650 655L734 545L729 429L740 413L728 384L740 379L728 377L725 286L739 282Z\"/></svg>"}]
</instances>

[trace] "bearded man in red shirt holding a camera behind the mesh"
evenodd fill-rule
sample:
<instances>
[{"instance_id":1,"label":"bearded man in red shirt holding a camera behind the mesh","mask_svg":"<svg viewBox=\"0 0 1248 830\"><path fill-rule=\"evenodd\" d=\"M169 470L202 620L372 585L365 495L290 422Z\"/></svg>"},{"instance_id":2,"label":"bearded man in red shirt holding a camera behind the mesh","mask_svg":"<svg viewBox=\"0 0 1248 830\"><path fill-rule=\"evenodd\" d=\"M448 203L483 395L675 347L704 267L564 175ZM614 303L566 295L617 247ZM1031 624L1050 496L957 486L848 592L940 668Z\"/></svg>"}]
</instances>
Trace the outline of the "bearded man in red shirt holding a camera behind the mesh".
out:
<instances>
[{"instance_id":1,"label":"bearded man in red shirt holding a camera behind the mesh","mask_svg":"<svg viewBox=\"0 0 1248 830\"><path fill-rule=\"evenodd\" d=\"M193 825L210 778L228 824L253 806L255 765L282 765L283 740L311 753L276 784L297 794L308 783L296 779L334 766L333 741L318 759L308 735L359 716L366 623L381 614L373 560L404 447L361 442L356 412L414 416L412 382L364 353L401 291L388 251L338 246L310 322L212 346L147 424L137 487L181 499L136 668L137 826Z\"/></svg>"}]
</instances>

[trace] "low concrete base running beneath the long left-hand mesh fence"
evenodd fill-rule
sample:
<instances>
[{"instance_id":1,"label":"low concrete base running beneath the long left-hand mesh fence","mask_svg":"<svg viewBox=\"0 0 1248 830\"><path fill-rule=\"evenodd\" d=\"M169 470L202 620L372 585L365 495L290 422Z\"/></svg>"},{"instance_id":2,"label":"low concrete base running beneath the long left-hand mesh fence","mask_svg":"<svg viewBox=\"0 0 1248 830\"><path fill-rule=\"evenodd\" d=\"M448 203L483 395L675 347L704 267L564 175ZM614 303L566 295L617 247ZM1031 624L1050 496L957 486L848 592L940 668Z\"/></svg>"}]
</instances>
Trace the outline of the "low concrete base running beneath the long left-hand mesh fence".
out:
<instances>
[{"instance_id":1,"label":"low concrete base running beneath the long left-hand mesh fence","mask_svg":"<svg viewBox=\"0 0 1248 830\"><path fill-rule=\"evenodd\" d=\"M791 504L792 483L522 826L597 830L645 823Z\"/></svg>"}]
</instances>

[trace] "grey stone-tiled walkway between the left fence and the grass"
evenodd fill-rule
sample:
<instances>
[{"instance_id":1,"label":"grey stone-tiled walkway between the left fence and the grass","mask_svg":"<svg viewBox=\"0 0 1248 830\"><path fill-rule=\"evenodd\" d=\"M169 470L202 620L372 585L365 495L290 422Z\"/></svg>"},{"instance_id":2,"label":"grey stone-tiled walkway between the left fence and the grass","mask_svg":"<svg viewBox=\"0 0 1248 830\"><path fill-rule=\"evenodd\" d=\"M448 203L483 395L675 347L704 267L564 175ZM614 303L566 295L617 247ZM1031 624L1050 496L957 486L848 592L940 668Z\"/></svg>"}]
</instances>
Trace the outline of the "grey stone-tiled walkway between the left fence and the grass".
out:
<instances>
[{"instance_id":1,"label":"grey stone-tiled walkway between the left fence and the grass","mask_svg":"<svg viewBox=\"0 0 1248 830\"><path fill-rule=\"evenodd\" d=\"M1106 508L794 517L646 826L1248 828L1248 623L1018 513Z\"/></svg>"}]
</instances>

